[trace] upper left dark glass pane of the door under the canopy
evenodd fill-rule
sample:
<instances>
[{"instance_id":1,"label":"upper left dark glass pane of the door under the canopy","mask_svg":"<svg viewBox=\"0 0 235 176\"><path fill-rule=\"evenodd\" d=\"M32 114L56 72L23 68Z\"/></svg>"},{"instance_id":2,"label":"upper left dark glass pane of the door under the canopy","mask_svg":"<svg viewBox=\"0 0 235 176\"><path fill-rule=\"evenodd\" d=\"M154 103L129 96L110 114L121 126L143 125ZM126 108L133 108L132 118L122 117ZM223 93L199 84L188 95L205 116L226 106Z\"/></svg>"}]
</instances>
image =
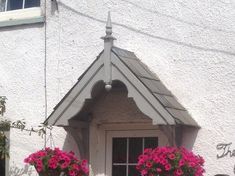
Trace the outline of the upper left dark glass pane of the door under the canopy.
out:
<instances>
[{"instance_id":1,"label":"upper left dark glass pane of the door under the canopy","mask_svg":"<svg viewBox=\"0 0 235 176\"><path fill-rule=\"evenodd\" d=\"M113 163L126 163L127 138L113 138Z\"/></svg>"}]
</instances>

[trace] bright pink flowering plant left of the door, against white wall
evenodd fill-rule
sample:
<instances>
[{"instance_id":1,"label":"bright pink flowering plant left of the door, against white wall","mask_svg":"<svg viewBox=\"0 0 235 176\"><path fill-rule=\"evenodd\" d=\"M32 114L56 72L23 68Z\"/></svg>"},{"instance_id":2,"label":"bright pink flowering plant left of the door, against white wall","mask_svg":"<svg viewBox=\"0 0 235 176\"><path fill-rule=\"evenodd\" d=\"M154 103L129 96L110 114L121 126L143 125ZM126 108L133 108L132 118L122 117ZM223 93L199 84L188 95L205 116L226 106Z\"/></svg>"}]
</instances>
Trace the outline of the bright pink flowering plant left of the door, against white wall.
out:
<instances>
[{"instance_id":1,"label":"bright pink flowering plant left of the door, against white wall","mask_svg":"<svg viewBox=\"0 0 235 176\"><path fill-rule=\"evenodd\" d=\"M64 152L59 148L37 151L24 159L33 165L40 176L87 176L86 160L79 160L73 152Z\"/></svg>"}]
</instances>

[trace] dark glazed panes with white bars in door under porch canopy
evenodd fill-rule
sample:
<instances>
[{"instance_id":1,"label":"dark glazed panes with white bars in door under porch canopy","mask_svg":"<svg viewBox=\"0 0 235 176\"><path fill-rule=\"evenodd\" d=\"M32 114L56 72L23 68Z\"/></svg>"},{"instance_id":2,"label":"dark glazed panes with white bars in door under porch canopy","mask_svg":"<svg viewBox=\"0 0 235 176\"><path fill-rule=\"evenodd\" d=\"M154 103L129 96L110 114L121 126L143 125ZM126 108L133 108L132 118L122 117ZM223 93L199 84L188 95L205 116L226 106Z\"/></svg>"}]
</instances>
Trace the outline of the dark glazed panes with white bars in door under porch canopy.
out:
<instances>
[{"instance_id":1,"label":"dark glazed panes with white bars in door under porch canopy","mask_svg":"<svg viewBox=\"0 0 235 176\"><path fill-rule=\"evenodd\" d=\"M144 148L158 146L157 137L112 138L112 176L140 176L136 169Z\"/></svg>"}]
</instances>

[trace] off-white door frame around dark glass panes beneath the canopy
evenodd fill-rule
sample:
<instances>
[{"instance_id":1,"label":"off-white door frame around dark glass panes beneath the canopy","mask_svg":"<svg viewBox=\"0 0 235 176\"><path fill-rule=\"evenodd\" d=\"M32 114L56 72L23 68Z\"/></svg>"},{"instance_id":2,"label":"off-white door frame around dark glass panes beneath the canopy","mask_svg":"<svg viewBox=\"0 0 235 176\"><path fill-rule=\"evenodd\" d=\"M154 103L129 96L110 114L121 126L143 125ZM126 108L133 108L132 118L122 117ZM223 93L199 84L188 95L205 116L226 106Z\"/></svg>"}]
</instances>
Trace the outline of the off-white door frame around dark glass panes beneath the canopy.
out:
<instances>
[{"instance_id":1,"label":"off-white door frame around dark glass panes beneath the canopy","mask_svg":"<svg viewBox=\"0 0 235 176\"><path fill-rule=\"evenodd\" d=\"M118 137L157 137L158 146L164 146L168 143L167 138L158 129L156 130L117 130L106 131L106 161L105 175L112 176L112 139Z\"/></svg>"}]
</instances>

